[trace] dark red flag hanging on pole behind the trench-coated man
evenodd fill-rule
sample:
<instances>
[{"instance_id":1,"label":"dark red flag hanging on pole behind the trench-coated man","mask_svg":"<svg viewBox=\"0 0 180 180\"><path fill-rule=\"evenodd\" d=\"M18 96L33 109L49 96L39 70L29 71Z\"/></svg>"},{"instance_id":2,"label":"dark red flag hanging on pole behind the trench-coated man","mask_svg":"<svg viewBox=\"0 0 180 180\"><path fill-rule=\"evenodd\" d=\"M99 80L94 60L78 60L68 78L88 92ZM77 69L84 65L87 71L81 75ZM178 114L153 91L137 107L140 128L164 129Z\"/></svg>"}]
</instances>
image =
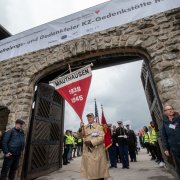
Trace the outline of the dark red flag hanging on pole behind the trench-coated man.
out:
<instances>
[{"instance_id":1,"label":"dark red flag hanging on pole behind the trench-coated man","mask_svg":"<svg viewBox=\"0 0 180 180\"><path fill-rule=\"evenodd\" d=\"M110 132L110 129L108 128L106 118L104 116L103 111L102 111L102 121L101 121L101 123L102 123L104 133L105 133L104 145L105 145L105 148L108 149L112 145L112 138L111 138L111 132Z\"/></svg>"}]
</instances>

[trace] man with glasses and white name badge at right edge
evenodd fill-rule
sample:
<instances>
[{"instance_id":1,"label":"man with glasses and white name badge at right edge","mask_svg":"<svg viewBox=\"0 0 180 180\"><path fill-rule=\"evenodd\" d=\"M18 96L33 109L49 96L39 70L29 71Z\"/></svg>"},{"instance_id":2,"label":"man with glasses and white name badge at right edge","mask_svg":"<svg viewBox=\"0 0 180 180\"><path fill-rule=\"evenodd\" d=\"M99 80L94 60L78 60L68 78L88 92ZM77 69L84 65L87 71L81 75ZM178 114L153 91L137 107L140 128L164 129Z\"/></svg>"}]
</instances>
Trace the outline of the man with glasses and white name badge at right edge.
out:
<instances>
[{"instance_id":1,"label":"man with glasses and white name badge at right edge","mask_svg":"<svg viewBox=\"0 0 180 180\"><path fill-rule=\"evenodd\" d=\"M167 157L172 151L177 172L180 175L180 115L174 111L172 106L164 107L164 120L162 126L162 143L164 153Z\"/></svg>"}]
</instances>

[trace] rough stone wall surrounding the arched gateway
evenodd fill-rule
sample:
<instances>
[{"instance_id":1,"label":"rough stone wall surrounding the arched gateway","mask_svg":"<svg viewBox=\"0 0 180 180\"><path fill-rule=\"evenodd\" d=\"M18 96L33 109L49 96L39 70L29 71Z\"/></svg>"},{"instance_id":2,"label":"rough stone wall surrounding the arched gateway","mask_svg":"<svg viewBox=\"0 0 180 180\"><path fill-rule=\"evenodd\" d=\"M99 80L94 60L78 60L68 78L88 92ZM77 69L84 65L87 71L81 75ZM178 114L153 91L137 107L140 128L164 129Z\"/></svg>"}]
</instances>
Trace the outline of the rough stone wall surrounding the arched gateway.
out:
<instances>
[{"instance_id":1,"label":"rough stone wall surrounding the arched gateway","mask_svg":"<svg viewBox=\"0 0 180 180\"><path fill-rule=\"evenodd\" d=\"M64 44L0 62L0 106L29 127L36 81L68 63L100 55L135 54L149 60L162 104L180 112L180 9L83 36Z\"/></svg>"}]
</instances>

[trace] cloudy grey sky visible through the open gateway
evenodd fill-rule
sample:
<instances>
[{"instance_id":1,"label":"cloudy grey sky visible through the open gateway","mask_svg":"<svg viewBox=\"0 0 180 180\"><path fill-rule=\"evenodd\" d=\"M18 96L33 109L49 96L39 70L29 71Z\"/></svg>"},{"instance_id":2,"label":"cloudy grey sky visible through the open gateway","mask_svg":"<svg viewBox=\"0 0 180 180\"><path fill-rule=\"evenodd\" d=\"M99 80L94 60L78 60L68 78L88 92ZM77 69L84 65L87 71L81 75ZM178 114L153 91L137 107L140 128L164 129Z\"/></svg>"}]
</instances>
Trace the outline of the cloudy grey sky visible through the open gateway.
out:
<instances>
[{"instance_id":1,"label":"cloudy grey sky visible through the open gateway","mask_svg":"<svg viewBox=\"0 0 180 180\"><path fill-rule=\"evenodd\" d=\"M96 98L99 116L102 104L108 123L117 125L119 120L130 121L135 130L147 125L151 119L140 79L141 66L142 61L138 61L93 71L84 122L87 113L94 113ZM67 103L65 115L65 128L75 130L79 118Z\"/></svg>"}]
</instances>

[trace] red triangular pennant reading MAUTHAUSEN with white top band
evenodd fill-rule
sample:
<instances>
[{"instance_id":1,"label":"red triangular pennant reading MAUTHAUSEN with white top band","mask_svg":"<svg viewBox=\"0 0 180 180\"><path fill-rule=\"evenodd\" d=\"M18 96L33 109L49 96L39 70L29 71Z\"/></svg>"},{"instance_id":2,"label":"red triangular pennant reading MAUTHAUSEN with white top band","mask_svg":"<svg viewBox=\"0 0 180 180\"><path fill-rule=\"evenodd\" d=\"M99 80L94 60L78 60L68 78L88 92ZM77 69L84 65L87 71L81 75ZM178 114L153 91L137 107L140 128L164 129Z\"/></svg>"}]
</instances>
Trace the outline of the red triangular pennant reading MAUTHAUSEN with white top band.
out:
<instances>
[{"instance_id":1,"label":"red triangular pennant reading MAUTHAUSEN with white top band","mask_svg":"<svg viewBox=\"0 0 180 180\"><path fill-rule=\"evenodd\" d=\"M79 118L82 114L91 83L91 65L51 81L55 89L72 106Z\"/></svg>"}]
</instances>

